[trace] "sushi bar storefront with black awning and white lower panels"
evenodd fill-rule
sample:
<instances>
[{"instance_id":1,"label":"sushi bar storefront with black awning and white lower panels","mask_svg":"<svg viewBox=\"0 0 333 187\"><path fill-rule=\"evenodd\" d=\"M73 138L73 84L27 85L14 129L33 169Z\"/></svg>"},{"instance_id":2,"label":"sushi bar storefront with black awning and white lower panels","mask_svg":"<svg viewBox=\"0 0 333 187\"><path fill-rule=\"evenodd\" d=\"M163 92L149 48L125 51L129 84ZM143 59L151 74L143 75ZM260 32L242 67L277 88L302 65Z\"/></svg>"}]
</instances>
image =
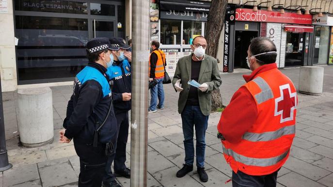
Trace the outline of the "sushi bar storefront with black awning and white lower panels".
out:
<instances>
[{"instance_id":1,"label":"sushi bar storefront with black awning and white lower panels","mask_svg":"<svg viewBox=\"0 0 333 187\"><path fill-rule=\"evenodd\" d=\"M165 52L165 68L170 76L174 76L178 59L190 55L193 38L205 36L209 6L209 2L202 1L160 0L156 21L156 6L151 5L150 39L158 40L159 48Z\"/></svg>"}]
</instances>

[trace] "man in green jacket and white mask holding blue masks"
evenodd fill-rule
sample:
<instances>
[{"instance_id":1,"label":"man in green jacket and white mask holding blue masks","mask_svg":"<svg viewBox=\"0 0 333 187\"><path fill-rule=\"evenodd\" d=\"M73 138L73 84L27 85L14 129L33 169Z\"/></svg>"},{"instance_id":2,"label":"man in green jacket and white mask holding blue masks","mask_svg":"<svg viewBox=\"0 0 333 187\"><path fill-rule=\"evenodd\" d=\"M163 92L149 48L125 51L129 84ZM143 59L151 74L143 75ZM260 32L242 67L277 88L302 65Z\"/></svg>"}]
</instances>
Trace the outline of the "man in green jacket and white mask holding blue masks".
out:
<instances>
[{"instance_id":1,"label":"man in green jacket and white mask holding blue masks","mask_svg":"<svg viewBox=\"0 0 333 187\"><path fill-rule=\"evenodd\" d=\"M196 136L196 166L200 180L203 182L208 181L204 164L206 148L205 134L211 110L211 91L218 89L222 83L217 60L205 55L206 47L207 42L203 36L195 37L191 45L193 53L178 60L172 81L174 89L180 92L178 112L182 117L185 147L185 164L177 172L177 177L183 177L193 170L194 126ZM188 84L190 80L195 80L200 86L190 86Z\"/></svg>"}]
</instances>

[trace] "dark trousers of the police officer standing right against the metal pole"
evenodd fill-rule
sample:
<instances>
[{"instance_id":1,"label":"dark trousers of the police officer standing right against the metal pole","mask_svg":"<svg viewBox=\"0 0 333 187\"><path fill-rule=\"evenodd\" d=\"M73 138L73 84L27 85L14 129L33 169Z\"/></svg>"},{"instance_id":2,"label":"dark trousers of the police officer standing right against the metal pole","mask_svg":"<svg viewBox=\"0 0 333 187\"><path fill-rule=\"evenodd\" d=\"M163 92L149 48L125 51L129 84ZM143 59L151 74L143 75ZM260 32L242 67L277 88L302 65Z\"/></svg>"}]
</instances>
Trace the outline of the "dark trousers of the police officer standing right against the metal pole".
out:
<instances>
[{"instance_id":1,"label":"dark trousers of the police officer standing right against the metal pole","mask_svg":"<svg viewBox=\"0 0 333 187\"><path fill-rule=\"evenodd\" d=\"M128 111L116 114L118 125L118 138L116 143L115 152L109 156L106 164L106 175L103 178L103 182L108 184L115 180L111 170L111 164L113 162L114 172L120 172L126 169L126 144L128 138Z\"/></svg>"}]
</instances>

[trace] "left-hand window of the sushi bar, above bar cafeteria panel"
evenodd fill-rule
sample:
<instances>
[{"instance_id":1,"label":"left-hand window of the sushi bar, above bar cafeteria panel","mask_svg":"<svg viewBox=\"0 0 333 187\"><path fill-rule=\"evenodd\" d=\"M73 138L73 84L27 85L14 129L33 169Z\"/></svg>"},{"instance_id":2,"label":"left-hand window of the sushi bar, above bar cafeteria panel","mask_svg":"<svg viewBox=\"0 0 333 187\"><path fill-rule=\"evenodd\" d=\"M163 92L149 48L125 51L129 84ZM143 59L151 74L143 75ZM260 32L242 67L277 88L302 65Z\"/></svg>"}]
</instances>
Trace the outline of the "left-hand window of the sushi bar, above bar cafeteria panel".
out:
<instances>
[{"instance_id":1,"label":"left-hand window of the sushi bar, above bar cafeteria panel","mask_svg":"<svg viewBox=\"0 0 333 187\"><path fill-rule=\"evenodd\" d=\"M161 38L162 44L180 44L181 21L161 19Z\"/></svg>"}]
</instances>

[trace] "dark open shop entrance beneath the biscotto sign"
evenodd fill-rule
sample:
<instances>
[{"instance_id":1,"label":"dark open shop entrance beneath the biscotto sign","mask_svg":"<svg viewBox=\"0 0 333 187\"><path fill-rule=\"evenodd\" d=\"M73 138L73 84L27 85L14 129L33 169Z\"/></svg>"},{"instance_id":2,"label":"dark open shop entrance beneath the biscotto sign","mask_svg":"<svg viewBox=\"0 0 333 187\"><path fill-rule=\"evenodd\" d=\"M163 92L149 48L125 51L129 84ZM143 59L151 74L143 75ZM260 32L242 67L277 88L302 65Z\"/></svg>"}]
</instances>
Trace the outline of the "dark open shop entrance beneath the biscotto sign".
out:
<instances>
[{"instance_id":1,"label":"dark open shop entrance beneath the biscotto sign","mask_svg":"<svg viewBox=\"0 0 333 187\"><path fill-rule=\"evenodd\" d=\"M249 68L245 58L251 40L257 36L257 31L236 31L234 68Z\"/></svg>"}]
</instances>

